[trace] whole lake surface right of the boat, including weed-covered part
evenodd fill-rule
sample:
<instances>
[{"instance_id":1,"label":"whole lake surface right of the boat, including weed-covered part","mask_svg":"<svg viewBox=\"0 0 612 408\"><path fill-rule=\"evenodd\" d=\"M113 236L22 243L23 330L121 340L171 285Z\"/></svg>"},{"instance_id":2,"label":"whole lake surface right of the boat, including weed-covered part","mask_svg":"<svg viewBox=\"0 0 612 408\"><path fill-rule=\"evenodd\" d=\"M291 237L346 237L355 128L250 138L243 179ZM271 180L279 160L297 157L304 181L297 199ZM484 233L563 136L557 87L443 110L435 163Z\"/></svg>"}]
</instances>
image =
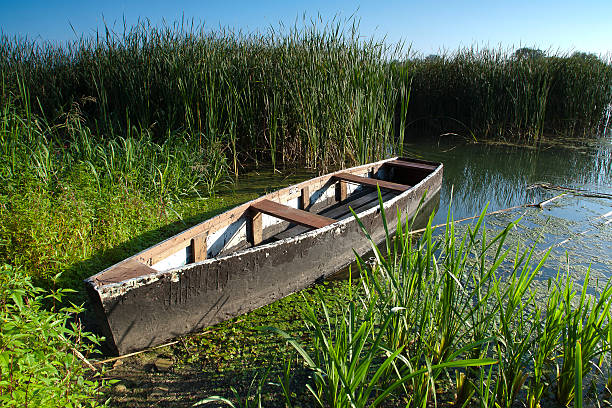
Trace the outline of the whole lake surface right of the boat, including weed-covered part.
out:
<instances>
[{"instance_id":1,"label":"whole lake surface right of the boat, including weed-covered part","mask_svg":"<svg viewBox=\"0 0 612 408\"><path fill-rule=\"evenodd\" d=\"M560 267L565 270L567 259L579 281L589 266L593 278L612 277L612 137L534 149L442 138L408 143L404 155L444 163L434 224L445 223L449 205L458 220L480 213L487 204L492 212L567 192L543 208L487 216L487 225L502 228L522 217L509 241L535 244L539 258L552 246L543 278Z\"/></svg>"}]
</instances>

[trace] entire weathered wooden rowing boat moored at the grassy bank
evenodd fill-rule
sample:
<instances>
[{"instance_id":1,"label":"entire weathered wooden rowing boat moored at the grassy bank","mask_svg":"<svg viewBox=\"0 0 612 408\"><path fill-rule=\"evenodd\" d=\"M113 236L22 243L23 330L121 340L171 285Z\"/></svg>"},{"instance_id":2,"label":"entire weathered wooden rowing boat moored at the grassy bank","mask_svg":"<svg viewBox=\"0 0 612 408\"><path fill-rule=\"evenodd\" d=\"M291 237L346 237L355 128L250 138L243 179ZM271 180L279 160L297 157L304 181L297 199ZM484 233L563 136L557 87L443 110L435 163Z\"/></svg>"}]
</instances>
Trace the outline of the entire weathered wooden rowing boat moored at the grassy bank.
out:
<instances>
[{"instance_id":1,"label":"entire weathered wooden rowing boat moored at the grassy bank","mask_svg":"<svg viewBox=\"0 0 612 408\"><path fill-rule=\"evenodd\" d=\"M316 177L237 206L85 281L116 353L155 346L272 303L371 249L387 214L439 197L442 165L392 158ZM395 217L389 217L395 219ZM394 230L395 223L389 227Z\"/></svg>"}]
</instances>

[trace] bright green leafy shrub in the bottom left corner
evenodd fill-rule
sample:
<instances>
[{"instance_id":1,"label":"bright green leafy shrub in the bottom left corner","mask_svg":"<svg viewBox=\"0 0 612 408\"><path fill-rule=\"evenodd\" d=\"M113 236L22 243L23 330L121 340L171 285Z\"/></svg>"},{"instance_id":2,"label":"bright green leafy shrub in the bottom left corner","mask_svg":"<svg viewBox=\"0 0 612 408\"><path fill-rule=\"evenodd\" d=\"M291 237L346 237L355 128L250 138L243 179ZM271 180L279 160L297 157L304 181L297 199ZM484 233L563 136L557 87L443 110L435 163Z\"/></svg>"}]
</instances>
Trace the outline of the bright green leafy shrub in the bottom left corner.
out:
<instances>
[{"instance_id":1,"label":"bright green leafy shrub in the bottom left corner","mask_svg":"<svg viewBox=\"0 0 612 408\"><path fill-rule=\"evenodd\" d=\"M100 338L74 320L81 307L58 306L66 292L45 292L20 269L0 266L0 405L106 405L107 382L86 367Z\"/></svg>"}]
</instances>

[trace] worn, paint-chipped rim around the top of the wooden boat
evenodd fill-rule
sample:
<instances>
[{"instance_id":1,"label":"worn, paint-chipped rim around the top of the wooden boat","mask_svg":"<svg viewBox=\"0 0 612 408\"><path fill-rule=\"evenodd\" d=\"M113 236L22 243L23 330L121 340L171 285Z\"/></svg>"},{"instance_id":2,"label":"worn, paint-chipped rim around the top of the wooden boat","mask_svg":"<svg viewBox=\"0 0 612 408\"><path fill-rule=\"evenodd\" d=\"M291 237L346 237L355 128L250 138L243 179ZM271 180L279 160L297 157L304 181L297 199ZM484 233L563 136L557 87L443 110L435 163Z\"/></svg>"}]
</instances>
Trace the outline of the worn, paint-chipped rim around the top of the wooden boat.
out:
<instances>
[{"instance_id":1,"label":"worn, paint-chipped rim around the top of the wooden boat","mask_svg":"<svg viewBox=\"0 0 612 408\"><path fill-rule=\"evenodd\" d=\"M186 264L186 265L181 265L181 266L176 267L176 268L171 268L171 269L166 269L166 270L162 270L162 271L156 271L156 272L150 273L150 274L144 274L144 275L140 275L140 276L135 276L135 277L132 277L132 278L129 278L129 279L125 279L125 280L119 281L119 282L110 282L110 283L99 285L98 281L97 281L97 278L102 276L107 271L112 270L113 268L123 264L124 262L127 262L130 259L137 259L138 260L139 257L142 257L143 254L146 254L151 249L153 249L155 247L158 247L158 246L161 246L164 243L166 243L166 242L168 242L168 241L170 241L172 239L176 239L177 237L179 237L179 236L181 236L183 234L187 235L188 238L186 238L185 241L188 242L194 236L204 232L204 231L201 231L201 232L193 233L193 234L190 235L189 233L190 233L191 230L196 229L198 227L201 227L202 224L207 223L210 220L213 220L213 219L215 219L217 217L222 217L223 215L227 215L227 214L230 214L232 212L240 212L242 207L244 207L244 212L246 212L246 211L248 211L248 208L250 207L250 205L255 203L255 202L258 202L258 201L263 200L263 199L270 199L270 196L277 196L278 197L278 196L281 196L283 193L289 194L292 189L308 186L308 185L314 184L314 183L316 183L318 181L322 181L322 180L326 180L327 179L325 181L325 183L323 183L323 185L324 185L329 180L331 180L334 175L336 175L338 173L347 172L347 171L359 172L360 170L368 169L368 168L372 168L372 167L380 168L386 162L393 161L393 160L412 161L412 162L416 162L416 163L435 165L436 167L435 167L435 169L433 171L431 171L426 177L424 177L417 184L415 184L413 186L410 186L410 188L407 189L406 191L403 191L403 192L395 195L391 199L389 199L387 201L384 201L383 202L383 207L385 209L389 208L396 201L401 200L402 198L404 198L406 195L410 194L415 189L418 189L422 184L427 183L429 179L435 177L439 172L442 171L442 168L443 168L443 164L442 163L436 163L436 162L430 162L430 161L420 160L420 159L415 159L415 158L406 158L406 157L397 157L396 156L396 157L392 157L392 158L388 158L388 159L384 159L384 160L379 160L379 161L373 162L373 163L367 163L367 164L363 164L363 165L360 165L360 166L351 167L351 168L348 168L348 169L340 169L340 170L335 171L333 173L327 173L327 174L324 174L324 175L321 175L321 176L317 176L317 177L314 177L314 178L311 178L311 179L308 179L308 180L304 180L304 181L302 181L300 183L292 184L290 186L283 187L282 189L270 192L270 193L265 194L263 196L259 196L259 197L255 198L253 200L250 200L250 201L245 202L243 204L239 204L238 206L232 207L231 209L229 209L227 211L224 211L221 214L217 214L214 217L211 217L211 218L209 218L207 220L204 220L204 221L194 225L193 227L190 227L190 228L188 228L188 229L186 229L184 231L181 231L181 232L179 232L176 235L173 235L173 236L171 236L171 237L169 237L169 238L167 238L167 239L165 239L165 240L163 240L161 242L158 242L157 244L152 245L152 246L150 246L150 247L148 247L148 248L146 248L146 249L144 249L144 250L142 250L142 251L140 251L140 252L138 252L138 253L136 253L136 254L128 257L128 258L125 258L125 259L117 262L116 264L114 264L114 265L112 265L112 266L102 270L101 272L98 272L97 274L88 277L87 279L85 279L85 283L88 284L88 285L91 285L93 287L93 289L95 289L99 293L101 293L101 292L104 292L104 293L114 292L113 289L116 289L116 288L123 288L125 286L132 286L132 285L140 286L140 285L137 285L137 283L140 282L140 281L145 281L145 282L143 282L143 284L149 284L152 281L156 281L156 280L160 279L160 277L162 277L162 276L178 274L178 273L180 273L180 272L182 272L184 270L187 270L189 268L192 268L192 267L194 267L196 265L205 265L205 264L217 262L217 261L222 260L222 259L227 259L227 258L232 258L232 257L240 257L240 256L243 256L245 254L252 253L252 252L255 252L255 251L270 250L272 248L277 248L277 247L280 247L280 246L285 245L285 244L293 244L293 243L299 242L299 241L301 241L303 239L306 239L306 238L309 238L309 237L312 237L312 236L315 236L315 235L318 235L318 234L323 234L323 233L325 233L326 231L328 231L328 230L330 230L332 228L334 228L334 229L335 228L342 228L344 225L346 225L348 223L355 222L355 218L354 217L348 217L348 218L345 218L343 220L338 220L338 221L336 221L336 222L334 222L334 223L332 223L330 225L327 225L325 227L317 228L317 229L312 229L310 231L306 231L304 233L298 234L298 235L293 236L293 237L287 237L287 238L284 238L284 239L279 240L279 241L270 242L270 243L266 243L266 244L261 244L261 245L257 245L257 246L254 246L254 247L240 249L238 251L231 252L231 253L228 253L226 255L212 257L212 258L207 258L207 259L202 260L200 262L192 262L192 263L189 263L189 264ZM364 216L369 215L370 213L377 212L377 211L380 211L379 207L378 206L374 206L374 207L372 207L370 209L367 209L365 211L362 211L362 212L358 213L357 215L359 217L364 217ZM242 212L242 214L244 214L244 212ZM236 217L236 219L239 219L241 216ZM181 247L181 248L183 248L183 247ZM177 250L180 250L181 248L179 248ZM143 263L143 265L146 265L146 264Z\"/></svg>"}]
</instances>

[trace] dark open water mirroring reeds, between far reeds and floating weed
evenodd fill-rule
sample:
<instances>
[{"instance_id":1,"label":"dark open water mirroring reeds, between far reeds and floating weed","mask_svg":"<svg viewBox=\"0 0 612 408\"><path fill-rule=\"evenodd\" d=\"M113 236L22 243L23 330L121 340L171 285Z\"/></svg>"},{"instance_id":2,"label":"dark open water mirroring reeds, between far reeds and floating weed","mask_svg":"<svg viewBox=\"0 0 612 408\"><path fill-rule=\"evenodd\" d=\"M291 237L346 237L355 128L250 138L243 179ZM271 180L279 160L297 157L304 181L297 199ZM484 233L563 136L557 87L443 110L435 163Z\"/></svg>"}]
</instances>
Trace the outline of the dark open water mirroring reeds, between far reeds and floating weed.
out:
<instances>
[{"instance_id":1,"label":"dark open water mirroring reeds, between far reeds and floating weed","mask_svg":"<svg viewBox=\"0 0 612 408\"><path fill-rule=\"evenodd\" d=\"M455 218L524 203L541 202L555 191L529 189L536 183L612 192L612 141L528 149L503 145L467 144L443 139L405 146L407 155L444 163L441 205L447 208L453 188ZM444 214L439 214L444 221ZM440 218L437 220L439 221Z\"/></svg>"}]
</instances>

